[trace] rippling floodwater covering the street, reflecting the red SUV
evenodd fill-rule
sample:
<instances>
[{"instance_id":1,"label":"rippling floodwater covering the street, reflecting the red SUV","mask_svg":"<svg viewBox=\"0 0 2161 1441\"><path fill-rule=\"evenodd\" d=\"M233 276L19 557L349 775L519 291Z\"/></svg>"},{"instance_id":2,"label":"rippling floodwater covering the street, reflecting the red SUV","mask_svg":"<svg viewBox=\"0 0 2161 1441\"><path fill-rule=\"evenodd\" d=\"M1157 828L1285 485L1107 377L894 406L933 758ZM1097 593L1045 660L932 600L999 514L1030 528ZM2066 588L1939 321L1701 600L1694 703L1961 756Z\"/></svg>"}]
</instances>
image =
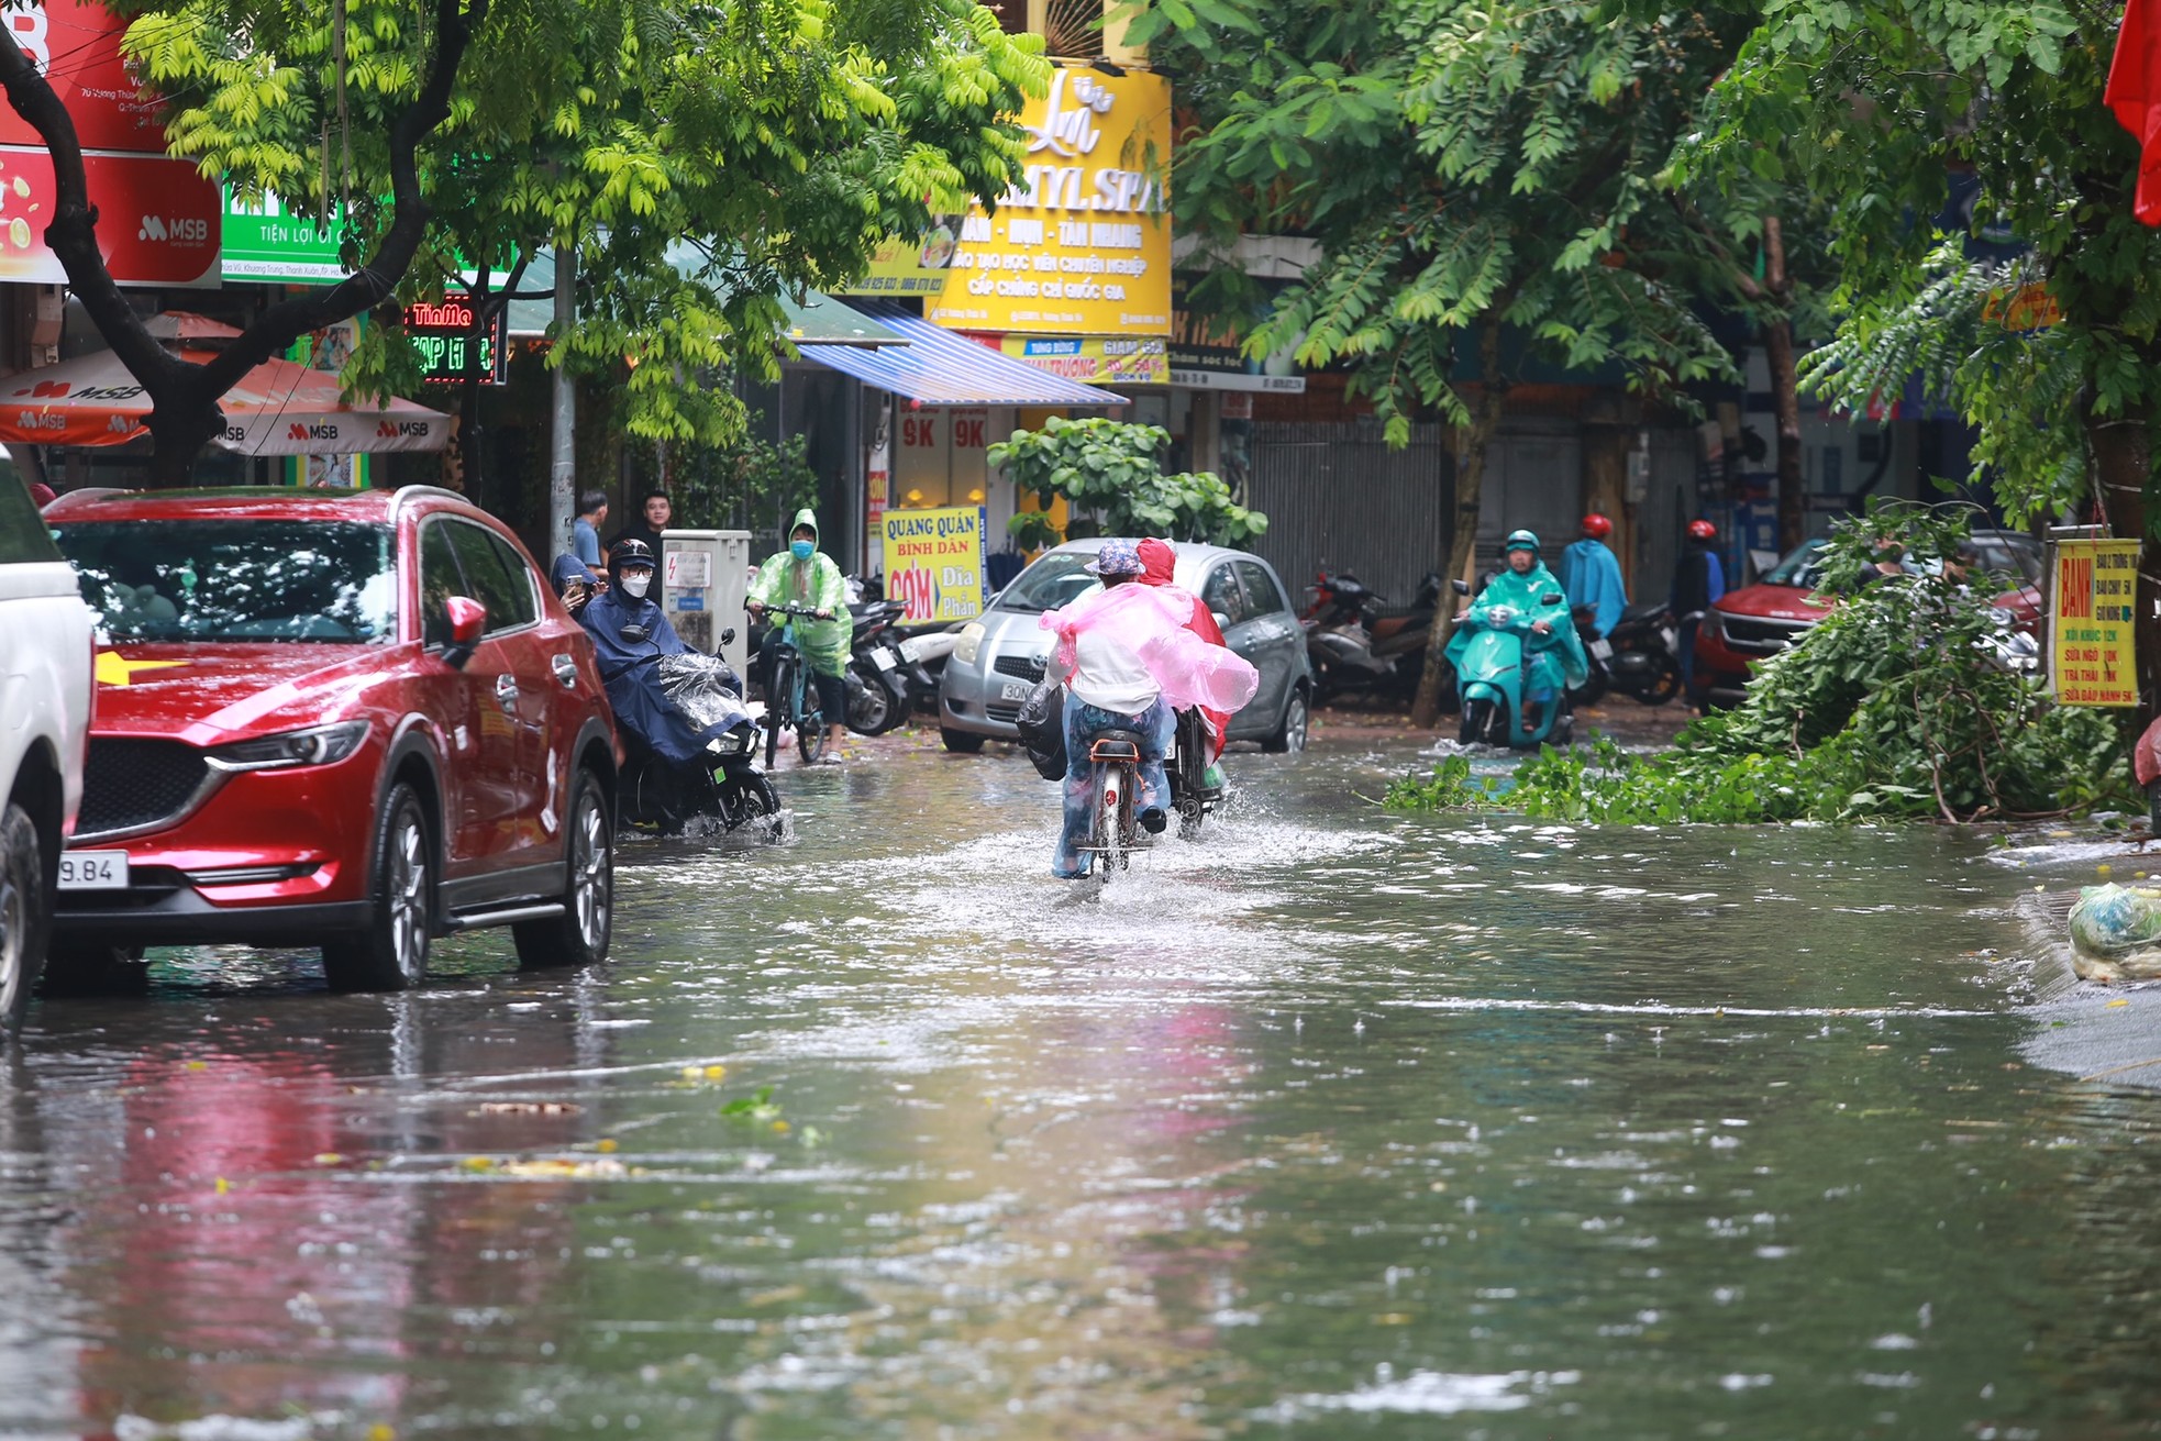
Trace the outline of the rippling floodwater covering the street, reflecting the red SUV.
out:
<instances>
[{"instance_id":1,"label":"rippling floodwater covering the street, reflecting the red SUV","mask_svg":"<svg viewBox=\"0 0 2161 1441\"><path fill-rule=\"evenodd\" d=\"M1011 756L633 845L614 961L173 953L0 1061L0 1437L2161 1435L2161 1097L1943 830L1394 817L1100 899ZM724 1067L724 1069L709 1069Z\"/></svg>"}]
</instances>

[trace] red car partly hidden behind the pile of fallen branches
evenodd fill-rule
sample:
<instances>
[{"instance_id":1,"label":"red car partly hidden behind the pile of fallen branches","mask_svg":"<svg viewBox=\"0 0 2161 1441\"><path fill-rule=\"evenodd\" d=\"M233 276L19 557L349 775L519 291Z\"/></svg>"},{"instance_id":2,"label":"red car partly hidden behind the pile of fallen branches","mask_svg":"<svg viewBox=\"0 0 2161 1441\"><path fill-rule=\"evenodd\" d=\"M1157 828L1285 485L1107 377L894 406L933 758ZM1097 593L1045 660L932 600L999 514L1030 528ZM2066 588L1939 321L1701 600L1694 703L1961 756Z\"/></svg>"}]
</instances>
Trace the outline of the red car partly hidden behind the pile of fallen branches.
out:
<instances>
[{"instance_id":1,"label":"red car partly hidden behind the pile of fallen branches","mask_svg":"<svg viewBox=\"0 0 2161 1441\"><path fill-rule=\"evenodd\" d=\"M2040 618L2040 544L2016 531L1973 531L1979 570L1999 583L2021 583L1997 596L2012 624L2034 631ZM1755 585L1729 590L1712 603L1696 629L1694 689L1712 706L1735 706L1748 685L1748 668L1800 639L1822 620L1835 596L1815 590L1822 575L1822 540L1804 540Z\"/></svg>"}]
</instances>

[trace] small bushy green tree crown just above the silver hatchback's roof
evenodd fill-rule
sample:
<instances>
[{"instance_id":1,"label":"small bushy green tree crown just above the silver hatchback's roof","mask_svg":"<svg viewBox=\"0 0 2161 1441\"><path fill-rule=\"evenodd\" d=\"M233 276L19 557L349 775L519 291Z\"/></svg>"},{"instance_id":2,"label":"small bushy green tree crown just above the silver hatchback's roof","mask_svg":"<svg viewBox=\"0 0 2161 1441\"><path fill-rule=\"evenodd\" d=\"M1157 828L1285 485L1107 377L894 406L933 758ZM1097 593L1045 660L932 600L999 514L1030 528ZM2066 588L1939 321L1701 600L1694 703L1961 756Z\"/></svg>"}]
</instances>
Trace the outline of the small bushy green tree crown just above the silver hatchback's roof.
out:
<instances>
[{"instance_id":1,"label":"small bushy green tree crown just above the silver hatchback's roof","mask_svg":"<svg viewBox=\"0 0 2161 1441\"><path fill-rule=\"evenodd\" d=\"M1111 419L1070 421L1050 417L1042 430L1016 430L1011 441L990 447L1022 490L1033 490L1037 512L1011 519L1022 549L1057 544L1048 510L1059 497L1098 519L1106 536L1160 536L1243 547L1269 529L1269 516L1238 506L1221 475L1210 471L1163 473L1163 452L1171 436L1160 426Z\"/></svg>"}]
</instances>

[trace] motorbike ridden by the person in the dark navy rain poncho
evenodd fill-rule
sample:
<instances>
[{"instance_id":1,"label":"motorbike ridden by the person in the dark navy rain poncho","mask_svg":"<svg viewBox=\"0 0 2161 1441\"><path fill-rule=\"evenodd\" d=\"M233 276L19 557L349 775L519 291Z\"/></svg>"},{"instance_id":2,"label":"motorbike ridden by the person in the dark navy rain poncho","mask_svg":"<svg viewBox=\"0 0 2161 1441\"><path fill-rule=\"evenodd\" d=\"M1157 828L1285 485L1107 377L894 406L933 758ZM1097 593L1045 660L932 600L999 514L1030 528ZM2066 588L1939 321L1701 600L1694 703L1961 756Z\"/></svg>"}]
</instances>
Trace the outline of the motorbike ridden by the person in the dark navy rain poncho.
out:
<instances>
[{"instance_id":1,"label":"motorbike ridden by the person in the dark navy rain poncho","mask_svg":"<svg viewBox=\"0 0 2161 1441\"><path fill-rule=\"evenodd\" d=\"M722 633L720 644L733 639L733 631ZM692 650L655 657L650 681L711 739L704 756L679 763L653 752L629 726L620 728L625 760L616 791L622 821L670 836L717 836L778 814L780 795L759 771L759 726L743 706L735 670Z\"/></svg>"}]
</instances>

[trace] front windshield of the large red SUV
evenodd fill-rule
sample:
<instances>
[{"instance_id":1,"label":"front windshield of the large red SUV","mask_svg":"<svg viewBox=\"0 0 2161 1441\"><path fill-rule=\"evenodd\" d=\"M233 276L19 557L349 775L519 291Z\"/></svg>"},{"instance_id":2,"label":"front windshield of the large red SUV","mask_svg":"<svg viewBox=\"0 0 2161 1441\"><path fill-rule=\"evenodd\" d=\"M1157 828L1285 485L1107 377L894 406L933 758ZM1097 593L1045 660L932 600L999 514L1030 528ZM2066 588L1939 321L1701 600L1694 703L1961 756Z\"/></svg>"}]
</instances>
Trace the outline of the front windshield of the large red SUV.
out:
<instances>
[{"instance_id":1,"label":"front windshield of the large red SUV","mask_svg":"<svg viewBox=\"0 0 2161 1441\"><path fill-rule=\"evenodd\" d=\"M89 521L54 529L112 639L376 642L398 633L391 531L344 521Z\"/></svg>"}]
</instances>

